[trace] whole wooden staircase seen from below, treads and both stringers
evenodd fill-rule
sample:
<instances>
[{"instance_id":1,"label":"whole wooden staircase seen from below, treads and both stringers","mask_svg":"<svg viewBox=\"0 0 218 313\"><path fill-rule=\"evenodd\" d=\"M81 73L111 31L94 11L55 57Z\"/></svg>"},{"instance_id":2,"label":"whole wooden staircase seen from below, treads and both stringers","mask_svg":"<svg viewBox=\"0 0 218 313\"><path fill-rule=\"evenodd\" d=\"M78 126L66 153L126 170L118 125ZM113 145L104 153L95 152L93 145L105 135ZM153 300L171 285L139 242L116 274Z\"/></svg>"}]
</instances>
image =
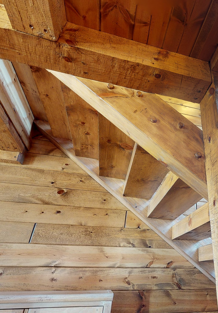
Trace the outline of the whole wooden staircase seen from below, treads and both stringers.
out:
<instances>
[{"instance_id":1,"label":"whole wooden staircase seen from below, treads and both stringers","mask_svg":"<svg viewBox=\"0 0 218 313\"><path fill-rule=\"evenodd\" d=\"M136 95L137 90L119 86L109 89L106 83L50 70L42 71L38 68L32 69L39 94L42 90L40 94L42 100L44 95L42 104L47 116L47 121L35 120L39 131L215 282L213 262L210 260L202 262L198 259L198 249L204 249L203 246L212 243L210 222L208 219L202 219L195 224L195 216L184 219L181 215L202 197L207 199L201 129L154 94L143 92L141 97ZM59 81L48 72L55 75L61 81L61 85L58 85ZM49 81L51 82L52 77L55 79L56 93L51 100ZM63 100L56 105L54 101L57 100L59 89L62 90ZM57 108L58 112L55 111ZM163 112L166 112L166 115ZM156 123L151 121L153 117L157 119ZM179 122L184 124L182 129L178 127ZM83 125L86 124L88 134L85 134L85 137L88 148L77 149L81 146L82 136L84 137ZM157 130L154 130L154 127ZM89 135L95 134L97 130L99 139L98 136L94 138ZM125 145L122 149L119 148L119 154L116 155L116 160L113 160L117 164L117 168L114 168L102 160L111 161L113 154L111 150L115 149L116 152L117 145L112 148L110 144L116 139ZM108 143L109 147L105 147L105 143L106 146ZM202 157L198 159L194 152L201 152ZM156 160L159 161L157 164ZM145 163L147 167L144 166ZM142 164L143 167L140 167ZM154 174L157 167L158 175ZM140 181L137 179L139 177L143 179ZM145 190L150 191L150 194L147 192L147 198ZM206 210L208 211L208 204L201 208L204 214ZM198 213L198 210L191 214L194 213ZM177 229L178 234L176 233L175 239L172 239L174 228L178 228L180 233ZM203 228L204 232L198 231ZM196 230L194 235L193 229ZM185 236L185 240L182 236ZM173 263L168 266L173 268Z\"/></svg>"}]
</instances>

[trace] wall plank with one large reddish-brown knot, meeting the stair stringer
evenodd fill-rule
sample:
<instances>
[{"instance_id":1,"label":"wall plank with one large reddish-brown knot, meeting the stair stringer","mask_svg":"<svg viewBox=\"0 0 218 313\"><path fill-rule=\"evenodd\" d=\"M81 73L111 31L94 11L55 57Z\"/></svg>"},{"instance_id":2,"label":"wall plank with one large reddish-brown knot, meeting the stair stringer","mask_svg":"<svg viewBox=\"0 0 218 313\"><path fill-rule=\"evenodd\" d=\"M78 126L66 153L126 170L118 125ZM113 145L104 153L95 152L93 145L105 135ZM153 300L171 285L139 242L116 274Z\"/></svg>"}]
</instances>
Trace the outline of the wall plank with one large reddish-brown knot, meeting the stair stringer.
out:
<instances>
[{"instance_id":1,"label":"wall plank with one large reddish-brown knot, meeting the stair stringer","mask_svg":"<svg viewBox=\"0 0 218 313\"><path fill-rule=\"evenodd\" d=\"M0 183L2 201L125 210L109 192Z\"/></svg>"}]
</instances>

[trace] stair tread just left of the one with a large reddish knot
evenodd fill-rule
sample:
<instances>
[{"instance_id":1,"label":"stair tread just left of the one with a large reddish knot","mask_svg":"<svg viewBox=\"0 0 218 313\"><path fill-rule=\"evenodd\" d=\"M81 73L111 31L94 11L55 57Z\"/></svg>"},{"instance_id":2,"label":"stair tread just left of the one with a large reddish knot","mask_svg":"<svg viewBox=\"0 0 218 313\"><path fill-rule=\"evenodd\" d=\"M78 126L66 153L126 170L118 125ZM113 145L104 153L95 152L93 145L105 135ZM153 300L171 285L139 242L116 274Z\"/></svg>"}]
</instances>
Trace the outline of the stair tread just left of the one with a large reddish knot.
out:
<instances>
[{"instance_id":1,"label":"stair tread just left of the one with a large reddish knot","mask_svg":"<svg viewBox=\"0 0 218 313\"><path fill-rule=\"evenodd\" d=\"M98 112L63 83L61 89L75 155L98 160Z\"/></svg>"}]
</instances>

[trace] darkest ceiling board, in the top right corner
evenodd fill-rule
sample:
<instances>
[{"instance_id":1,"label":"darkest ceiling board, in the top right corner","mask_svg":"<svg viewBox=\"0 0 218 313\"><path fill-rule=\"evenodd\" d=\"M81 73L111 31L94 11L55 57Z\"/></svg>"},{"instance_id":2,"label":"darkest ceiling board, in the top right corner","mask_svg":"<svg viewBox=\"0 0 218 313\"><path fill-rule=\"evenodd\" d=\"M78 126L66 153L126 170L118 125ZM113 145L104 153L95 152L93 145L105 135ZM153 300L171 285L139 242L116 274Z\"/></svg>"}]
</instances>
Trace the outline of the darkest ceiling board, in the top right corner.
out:
<instances>
[{"instance_id":1,"label":"darkest ceiling board, in the top right corner","mask_svg":"<svg viewBox=\"0 0 218 313\"><path fill-rule=\"evenodd\" d=\"M210 61L217 47L218 2L212 0L207 16L191 51L192 58Z\"/></svg>"}]
</instances>

